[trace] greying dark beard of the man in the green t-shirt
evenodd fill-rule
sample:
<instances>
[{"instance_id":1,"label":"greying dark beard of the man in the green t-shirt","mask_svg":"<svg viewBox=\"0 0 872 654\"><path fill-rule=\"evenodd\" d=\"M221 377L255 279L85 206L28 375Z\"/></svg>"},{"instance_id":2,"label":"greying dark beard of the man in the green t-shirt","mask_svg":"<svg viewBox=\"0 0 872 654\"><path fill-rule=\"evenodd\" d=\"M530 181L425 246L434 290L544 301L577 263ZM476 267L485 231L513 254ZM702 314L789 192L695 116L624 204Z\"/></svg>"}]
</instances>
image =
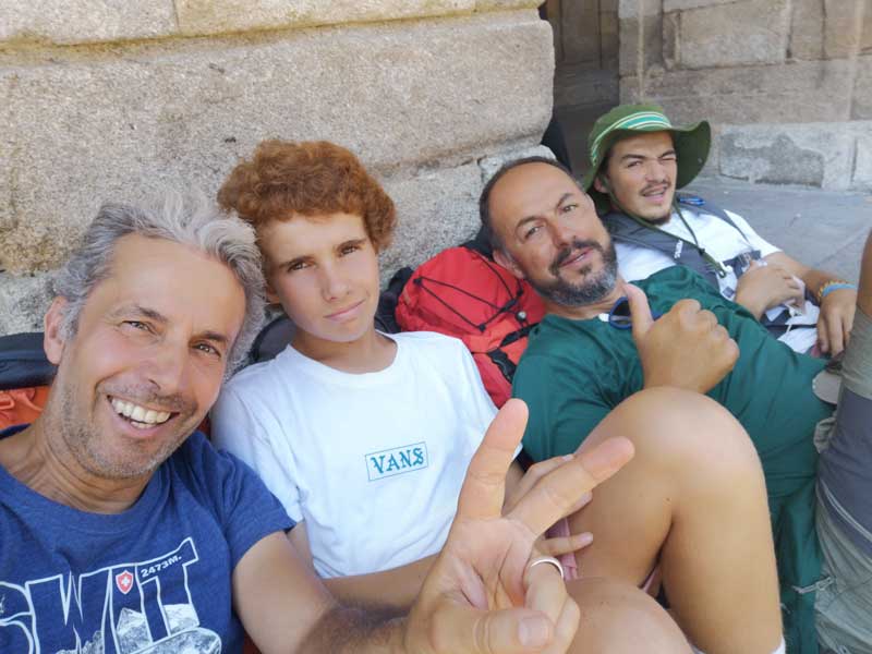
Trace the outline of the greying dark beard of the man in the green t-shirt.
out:
<instances>
[{"instance_id":1,"label":"greying dark beard of the man in the green t-shirt","mask_svg":"<svg viewBox=\"0 0 872 654\"><path fill-rule=\"evenodd\" d=\"M573 284L560 277L560 264L582 247L591 247L602 255L603 269L595 277L590 277L591 266L583 267L580 270L583 279ZM609 241L608 245L603 247L596 241L573 240L571 247L567 246L557 254L549 270L555 276L555 280L549 283L533 280L528 276L528 281L540 295L561 306L594 304L608 295L618 281L618 256L615 244Z\"/></svg>"}]
</instances>

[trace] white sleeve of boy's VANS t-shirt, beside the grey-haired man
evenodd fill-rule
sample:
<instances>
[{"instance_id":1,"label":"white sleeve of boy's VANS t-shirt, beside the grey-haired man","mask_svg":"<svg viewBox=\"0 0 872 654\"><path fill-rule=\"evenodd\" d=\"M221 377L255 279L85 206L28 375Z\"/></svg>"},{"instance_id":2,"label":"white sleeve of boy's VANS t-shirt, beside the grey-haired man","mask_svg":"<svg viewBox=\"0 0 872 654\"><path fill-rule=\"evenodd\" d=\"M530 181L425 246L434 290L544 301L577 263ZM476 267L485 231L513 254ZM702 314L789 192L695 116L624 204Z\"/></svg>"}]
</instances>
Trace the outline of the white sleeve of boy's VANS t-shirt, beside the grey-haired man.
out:
<instances>
[{"instance_id":1,"label":"white sleeve of boy's VANS t-shirt, beside the grey-haired man","mask_svg":"<svg viewBox=\"0 0 872 654\"><path fill-rule=\"evenodd\" d=\"M268 408L246 402L232 387L221 391L211 410L215 446L254 469L295 522L303 520L293 457L277 451L283 426Z\"/></svg>"}]
</instances>

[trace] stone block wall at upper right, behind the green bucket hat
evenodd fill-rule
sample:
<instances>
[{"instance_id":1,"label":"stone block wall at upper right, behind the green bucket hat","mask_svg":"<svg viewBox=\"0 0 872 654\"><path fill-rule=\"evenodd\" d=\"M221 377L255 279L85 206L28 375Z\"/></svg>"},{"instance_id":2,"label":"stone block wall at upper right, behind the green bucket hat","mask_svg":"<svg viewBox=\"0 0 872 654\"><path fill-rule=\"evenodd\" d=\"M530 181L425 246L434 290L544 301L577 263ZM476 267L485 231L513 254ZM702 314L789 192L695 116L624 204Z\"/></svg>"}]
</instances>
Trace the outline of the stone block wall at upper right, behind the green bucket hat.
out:
<instances>
[{"instance_id":1,"label":"stone block wall at upper right, behind the green bucket hat","mask_svg":"<svg viewBox=\"0 0 872 654\"><path fill-rule=\"evenodd\" d=\"M706 172L872 190L872 0L620 0L620 96L706 118Z\"/></svg>"}]
</instances>

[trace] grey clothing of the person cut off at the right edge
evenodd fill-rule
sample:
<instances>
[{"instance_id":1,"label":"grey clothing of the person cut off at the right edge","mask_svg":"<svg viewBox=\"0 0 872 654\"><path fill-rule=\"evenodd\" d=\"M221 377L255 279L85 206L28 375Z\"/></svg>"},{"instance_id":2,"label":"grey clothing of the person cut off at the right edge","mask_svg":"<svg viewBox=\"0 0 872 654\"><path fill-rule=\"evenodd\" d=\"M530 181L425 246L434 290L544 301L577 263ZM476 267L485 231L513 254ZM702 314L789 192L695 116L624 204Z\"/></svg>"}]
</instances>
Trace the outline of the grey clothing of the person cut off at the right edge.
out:
<instances>
[{"instance_id":1,"label":"grey clothing of the person cut off at the right edge","mask_svg":"<svg viewBox=\"0 0 872 654\"><path fill-rule=\"evenodd\" d=\"M838 409L819 426L816 584L821 644L872 654L872 319L859 308L845 352Z\"/></svg>"}]
</instances>

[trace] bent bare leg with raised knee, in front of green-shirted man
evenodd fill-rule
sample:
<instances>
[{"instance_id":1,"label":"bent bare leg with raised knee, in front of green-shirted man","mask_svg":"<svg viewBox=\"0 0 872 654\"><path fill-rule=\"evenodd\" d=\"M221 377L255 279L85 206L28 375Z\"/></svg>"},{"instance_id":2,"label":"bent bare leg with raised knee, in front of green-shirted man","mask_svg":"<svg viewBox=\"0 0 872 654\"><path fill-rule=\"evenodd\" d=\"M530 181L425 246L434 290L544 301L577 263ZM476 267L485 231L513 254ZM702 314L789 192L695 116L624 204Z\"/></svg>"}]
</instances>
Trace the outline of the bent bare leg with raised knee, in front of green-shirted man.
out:
<instances>
[{"instance_id":1,"label":"bent bare leg with raised knee, in front of green-shirted man","mask_svg":"<svg viewBox=\"0 0 872 654\"><path fill-rule=\"evenodd\" d=\"M634 459L570 518L593 545L583 576L640 585L659 560L673 613L706 654L770 654L782 639L763 471L748 435L717 403L671 388L639 392L583 448L622 435Z\"/></svg>"}]
</instances>

